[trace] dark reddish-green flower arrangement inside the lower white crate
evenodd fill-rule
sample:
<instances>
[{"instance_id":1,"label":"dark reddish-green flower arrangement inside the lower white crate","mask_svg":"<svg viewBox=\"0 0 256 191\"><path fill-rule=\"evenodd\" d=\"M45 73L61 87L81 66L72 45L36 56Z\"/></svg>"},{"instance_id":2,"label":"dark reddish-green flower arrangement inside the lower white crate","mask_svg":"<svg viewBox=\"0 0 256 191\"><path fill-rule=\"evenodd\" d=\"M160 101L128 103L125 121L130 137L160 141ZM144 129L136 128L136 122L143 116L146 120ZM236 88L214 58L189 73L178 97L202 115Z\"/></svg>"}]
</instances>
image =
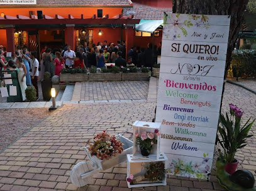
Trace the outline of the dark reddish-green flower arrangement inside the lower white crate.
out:
<instances>
[{"instance_id":1,"label":"dark reddish-green flower arrangement inside the lower white crate","mask_svg":"<svg viewBox=\"0 0 256 191\"><path fill-rule=\"evenodd\" d=\"M150 162L145 173L145 178L150 182L160 182L165 177L165 166L163 162Z\"/></svg>"}]
</instances>

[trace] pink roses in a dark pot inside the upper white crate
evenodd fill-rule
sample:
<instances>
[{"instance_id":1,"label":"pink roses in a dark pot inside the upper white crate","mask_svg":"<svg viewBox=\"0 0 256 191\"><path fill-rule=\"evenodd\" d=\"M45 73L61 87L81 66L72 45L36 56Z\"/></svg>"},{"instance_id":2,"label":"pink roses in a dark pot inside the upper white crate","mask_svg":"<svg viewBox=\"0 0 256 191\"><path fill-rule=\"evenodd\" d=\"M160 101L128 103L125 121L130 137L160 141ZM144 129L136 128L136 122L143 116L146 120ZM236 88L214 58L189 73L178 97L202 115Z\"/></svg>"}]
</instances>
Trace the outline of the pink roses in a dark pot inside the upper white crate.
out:
<instances>
[{"instance_id":1,"label":"pink roses in a dark pot inside the upper white crate","mask_svg":"<svg viewBox=\"0 0 256 191\"><path fill-rule=\"evenodd\" d=\"M155 135L161 135L158 129L155 129L154 133L136 133L136 146L139 145L140 151L142 152L143 156L148 156L153 148L153 144L157 143L157 138L155 138Z\"/></svg>"}]
</instances>

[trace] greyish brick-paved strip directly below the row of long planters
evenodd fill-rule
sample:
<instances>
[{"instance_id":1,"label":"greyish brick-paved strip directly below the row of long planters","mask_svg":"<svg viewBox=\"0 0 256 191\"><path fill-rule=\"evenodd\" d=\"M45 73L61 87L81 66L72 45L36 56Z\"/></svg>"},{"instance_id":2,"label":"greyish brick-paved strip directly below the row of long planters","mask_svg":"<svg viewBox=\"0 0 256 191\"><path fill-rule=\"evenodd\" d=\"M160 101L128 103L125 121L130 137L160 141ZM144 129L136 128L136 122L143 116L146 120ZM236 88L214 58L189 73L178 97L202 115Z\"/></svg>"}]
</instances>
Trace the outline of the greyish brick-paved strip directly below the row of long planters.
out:
<instances>
[{"instance_id":1,"label":"greyish brick-paved strip directly below the row of long planters","mask_svg":"<svg viewBox=\"0 0 256 191\"><path fill-rule=\"evenodd\" d=\"M86 81L75 83L72 101L146 100L148 81Z\"/></svg>"}]
</instances>

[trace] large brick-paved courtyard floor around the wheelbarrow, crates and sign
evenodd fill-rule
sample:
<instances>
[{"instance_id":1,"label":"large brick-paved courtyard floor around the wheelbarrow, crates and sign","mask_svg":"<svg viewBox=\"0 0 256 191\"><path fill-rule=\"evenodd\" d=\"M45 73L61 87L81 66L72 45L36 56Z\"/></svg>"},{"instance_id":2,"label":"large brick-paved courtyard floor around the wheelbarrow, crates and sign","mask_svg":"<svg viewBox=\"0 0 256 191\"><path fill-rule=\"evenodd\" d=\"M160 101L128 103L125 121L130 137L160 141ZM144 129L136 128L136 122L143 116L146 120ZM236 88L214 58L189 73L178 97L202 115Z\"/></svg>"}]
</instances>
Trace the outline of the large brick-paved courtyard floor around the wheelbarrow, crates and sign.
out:
<instances>
[{"instance_id":1,"label":"large brick-paved courtyard floor around the wheelbarrow, crates and sign","mask_svg":"<svg viewBox=\"0 0 256 191\"><path fill-rule=\"evenodd\" d=\"M152 82L157 84L157 81ZM156 88L155 88L156 89ZM89 138L107 130L111 134L125 133L130 138L131 125L135 120L151 121L154 117L156 93L150 87L148 101L120 101L107 103L80 103L62 106L30 132L0 153L0 190L27 191L139 191L142 188L127 188L126 163L94 174L93 181L85 187L70 183L70 170L76 163L87 160L83 150ZM254 100L254 102L253 102ZM255 95L238 86L226 84L223 110L233 102L243 108L245 116L256 114ZM240 168L251 170L255 175L256 150L253 138L248 147L237 153ZM167 186L145 187L145 190L211 191L224 190L213 176L209 182L193 178L169 176Z\"/></svg>"}]
</instances>

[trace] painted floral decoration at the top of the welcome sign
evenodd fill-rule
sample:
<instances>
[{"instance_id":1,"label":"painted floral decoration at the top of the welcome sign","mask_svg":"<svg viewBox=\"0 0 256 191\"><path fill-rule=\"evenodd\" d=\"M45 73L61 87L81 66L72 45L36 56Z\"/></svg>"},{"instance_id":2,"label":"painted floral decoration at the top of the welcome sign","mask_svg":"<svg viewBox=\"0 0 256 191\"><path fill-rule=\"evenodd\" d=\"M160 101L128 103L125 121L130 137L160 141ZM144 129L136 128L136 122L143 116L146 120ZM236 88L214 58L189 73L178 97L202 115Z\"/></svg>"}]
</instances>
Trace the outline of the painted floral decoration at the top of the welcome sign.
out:
<instances>
[{"instance_id":1,"label":"painted floral decoration at the top of the welcome sign","mask_svg":"<svg viewBox=\"0 0 256 191\"><path fill-rule=\"evenodd\" d=\"M186 19L185 18L181 19L180 16L181 14L170 14L168 16L165 16L164 18L165 30L163 35L167 39L172 38L172 40L174 40L177 38L181 38L181 35L187 36L187 28L190 28L191 26L209 29L209 18L204 14L202 15L182 14L182 16L185 16ZM166 24L167 19L170 20L170 24Z\"/></svg>"}]
</instances>

